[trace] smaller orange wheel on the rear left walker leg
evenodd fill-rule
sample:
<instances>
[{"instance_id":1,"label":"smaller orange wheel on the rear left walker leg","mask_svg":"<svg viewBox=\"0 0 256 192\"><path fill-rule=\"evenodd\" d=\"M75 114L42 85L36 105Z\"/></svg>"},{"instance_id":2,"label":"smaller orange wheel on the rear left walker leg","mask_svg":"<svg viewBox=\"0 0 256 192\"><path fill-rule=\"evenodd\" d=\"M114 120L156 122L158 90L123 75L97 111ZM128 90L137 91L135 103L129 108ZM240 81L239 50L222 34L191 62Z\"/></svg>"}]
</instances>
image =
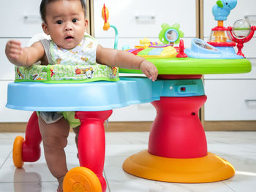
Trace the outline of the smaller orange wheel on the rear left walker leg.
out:
<instances>
[{"instance_id":1,"label":"smaller orange wheel on the rear left walker leg","mask_svg":"<svg viewBox=\"0 0 256 192\"><path fill-rule=\"evenodd\" d=\"M12 161L13 164L17 168L21 168L24 164L23 159L22 159L22 145L24 142L24 138L21 136L18 136L15 138L15 141L13 143L13 148L12 148Z\"/></svg>"}]
</instances>

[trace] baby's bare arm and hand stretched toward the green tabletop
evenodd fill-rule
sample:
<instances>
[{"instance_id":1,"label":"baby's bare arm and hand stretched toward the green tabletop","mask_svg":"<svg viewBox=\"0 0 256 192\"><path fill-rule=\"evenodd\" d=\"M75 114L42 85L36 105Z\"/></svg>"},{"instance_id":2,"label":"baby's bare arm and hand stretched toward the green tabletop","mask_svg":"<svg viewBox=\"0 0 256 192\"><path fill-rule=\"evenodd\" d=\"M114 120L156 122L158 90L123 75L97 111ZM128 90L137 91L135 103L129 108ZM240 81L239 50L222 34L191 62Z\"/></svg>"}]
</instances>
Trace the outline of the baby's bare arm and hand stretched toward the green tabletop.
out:
<instances>
[{"instance_id":1,"label":"baby's bare arm and hand stretched toward the green tabletop","mask_svg":"<svg viewBox=\"0 0 256 192\"><path fill-rule=\"evenodd\" d=\"M99 64L118 66L125 69L140 69L152 81L157 80L158 71L154 64L127 51L113 50L98 45L96 58Z\"/></svg>"}]
</instances>

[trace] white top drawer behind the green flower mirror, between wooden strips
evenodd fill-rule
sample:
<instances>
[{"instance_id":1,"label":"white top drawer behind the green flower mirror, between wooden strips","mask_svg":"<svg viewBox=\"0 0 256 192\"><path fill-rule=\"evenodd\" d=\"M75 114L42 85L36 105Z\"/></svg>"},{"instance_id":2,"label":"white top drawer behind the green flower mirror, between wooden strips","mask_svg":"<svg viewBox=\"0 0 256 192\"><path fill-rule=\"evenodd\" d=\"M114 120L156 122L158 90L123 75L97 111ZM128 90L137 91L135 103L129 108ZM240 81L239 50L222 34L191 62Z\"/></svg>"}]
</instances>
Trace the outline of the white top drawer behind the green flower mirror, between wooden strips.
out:
<instances>
[{"instance_id":1,"label":"white top drawer behind the green flower mirror, between wooden strips","mask_svg":"<svg viewBox=\"0 0 256 192\"><path fill-rule=\"evenodd\" d=\"M110 25L118 28L119 37L158 38L162 23L179 23L185 37L196 36L196 1L94 0L95 37L113 37L113 29L102 29L103 4L110 12Z\"/></svg>"}]
</instances>

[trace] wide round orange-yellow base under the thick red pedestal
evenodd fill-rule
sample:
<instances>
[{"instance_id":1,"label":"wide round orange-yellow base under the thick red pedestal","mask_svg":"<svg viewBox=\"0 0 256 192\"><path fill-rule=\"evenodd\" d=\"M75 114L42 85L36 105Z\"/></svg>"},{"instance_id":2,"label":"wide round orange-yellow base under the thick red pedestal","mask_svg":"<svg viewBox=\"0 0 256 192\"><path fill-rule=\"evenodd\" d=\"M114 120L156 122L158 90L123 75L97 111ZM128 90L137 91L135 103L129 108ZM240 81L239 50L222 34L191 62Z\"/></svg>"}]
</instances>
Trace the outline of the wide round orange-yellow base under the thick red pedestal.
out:
<instances>
[{"instance_id":1,"label":"wide round orange-yellow base under the thick red pedestal","mask_svg":"<svg viewBox=\"0 0 256 192\"><path fill-rule=\"evenodd\" d=\"M173 183L209 183L227 180L235 174L229 162L213 153L202 158L163 158L147 150L127 158L123 169L148 180Z\"/></svg>"}]
</instances>

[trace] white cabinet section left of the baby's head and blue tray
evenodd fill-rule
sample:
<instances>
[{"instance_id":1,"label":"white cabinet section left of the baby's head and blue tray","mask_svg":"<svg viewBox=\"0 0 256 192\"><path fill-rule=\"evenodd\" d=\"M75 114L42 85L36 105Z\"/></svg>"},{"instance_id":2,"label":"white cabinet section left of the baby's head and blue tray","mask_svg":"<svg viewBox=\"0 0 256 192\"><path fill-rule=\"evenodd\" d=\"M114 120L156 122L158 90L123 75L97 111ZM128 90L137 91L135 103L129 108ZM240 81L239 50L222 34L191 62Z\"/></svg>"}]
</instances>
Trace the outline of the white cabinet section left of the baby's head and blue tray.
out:
<instances>
[{"instance_id":1,"label":"white cabinet section left of the baby's head and blue tray","mask_svg":"<svg viewBox=\"0 0 256 192\"><path fill-rule=\"evenodd\" d=\"M20 40L26 46L34 34L42 32L39 17L41 0L1 1L0 30L0 122L27 122L31 112L10 110L7 103L7 85L15 78L14 66L8 61L4 50L9 39Z\"/></svg>"}]
</instances>

